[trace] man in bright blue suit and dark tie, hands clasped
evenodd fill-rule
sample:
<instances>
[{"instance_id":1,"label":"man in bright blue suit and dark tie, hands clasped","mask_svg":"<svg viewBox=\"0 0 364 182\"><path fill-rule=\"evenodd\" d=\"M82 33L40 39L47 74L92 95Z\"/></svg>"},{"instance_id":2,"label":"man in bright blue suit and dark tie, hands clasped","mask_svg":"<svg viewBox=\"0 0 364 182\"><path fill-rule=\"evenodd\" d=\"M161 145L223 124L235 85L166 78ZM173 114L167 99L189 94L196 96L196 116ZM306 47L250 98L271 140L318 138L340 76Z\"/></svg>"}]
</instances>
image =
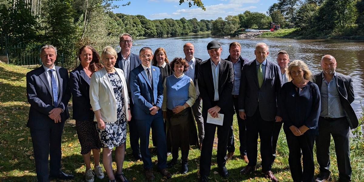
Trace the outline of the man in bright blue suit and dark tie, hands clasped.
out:
<instances>
[{"instance_id":1,"label":"man in bright blue suit and dark tie, hands clasped","mask_svg":"<svg viewBox=\"0 0 364 182\"><path fill-rule=\"evenodd\" d=\"M154 179L153 163L149 152L149 133L152 128L157 139L158 171L167 179L171 173L166 170L167 143L162 114L163 86L161 72L158 67L151 66L153 52L149 47L139 51L142 64L130 72L130 90L134 100L133 116L138 126L140 136L140 151L142 154L145 176Z\"/></svg>"}]
</instances>

